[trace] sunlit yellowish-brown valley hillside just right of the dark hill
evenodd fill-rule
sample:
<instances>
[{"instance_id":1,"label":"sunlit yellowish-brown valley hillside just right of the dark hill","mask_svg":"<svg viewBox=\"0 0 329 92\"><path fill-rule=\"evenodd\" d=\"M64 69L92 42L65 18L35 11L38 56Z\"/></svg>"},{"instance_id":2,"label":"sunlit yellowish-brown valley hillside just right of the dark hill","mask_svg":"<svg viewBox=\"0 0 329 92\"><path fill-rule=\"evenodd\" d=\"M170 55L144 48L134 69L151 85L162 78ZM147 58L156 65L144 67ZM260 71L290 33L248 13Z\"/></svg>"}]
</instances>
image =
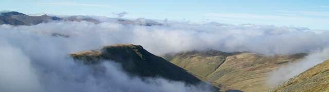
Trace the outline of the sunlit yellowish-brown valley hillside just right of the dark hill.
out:
<instances>
[{"instance_id":1,"label":"sunlit yellowish-brown valley hillside just right of the dark hill","mask_svg":"<svg viewBox=\"0 0 329 92\"><path fill-rule=\"evenodd\" d=\"M164 56L170 62L225 89L267 91L268 73L306 54L265 56L257 53L192 51Z\"/></svg>"}]
</instances>

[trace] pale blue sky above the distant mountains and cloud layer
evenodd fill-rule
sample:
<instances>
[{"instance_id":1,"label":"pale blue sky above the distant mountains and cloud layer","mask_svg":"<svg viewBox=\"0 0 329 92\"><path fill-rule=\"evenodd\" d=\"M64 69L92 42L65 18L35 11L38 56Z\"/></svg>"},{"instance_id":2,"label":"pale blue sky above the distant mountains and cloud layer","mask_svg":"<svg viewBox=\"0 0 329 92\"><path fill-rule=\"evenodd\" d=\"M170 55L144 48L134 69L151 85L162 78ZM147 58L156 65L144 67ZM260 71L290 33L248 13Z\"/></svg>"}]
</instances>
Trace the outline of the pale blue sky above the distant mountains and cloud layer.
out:
<instances>
[{"instance_id":1,"label":"pale blue sky above the distant mountains and cloud layer","mask_svg":"<svg viewBox=\"0 0 329 92\"><path fill-rule=\"evenodd\" d=\"M33 1L2 0L0 9L26 14L99 15L124 18L185 20L191 22L221 22L329 29L329 1Z\"/></svg>"}]
</instances>

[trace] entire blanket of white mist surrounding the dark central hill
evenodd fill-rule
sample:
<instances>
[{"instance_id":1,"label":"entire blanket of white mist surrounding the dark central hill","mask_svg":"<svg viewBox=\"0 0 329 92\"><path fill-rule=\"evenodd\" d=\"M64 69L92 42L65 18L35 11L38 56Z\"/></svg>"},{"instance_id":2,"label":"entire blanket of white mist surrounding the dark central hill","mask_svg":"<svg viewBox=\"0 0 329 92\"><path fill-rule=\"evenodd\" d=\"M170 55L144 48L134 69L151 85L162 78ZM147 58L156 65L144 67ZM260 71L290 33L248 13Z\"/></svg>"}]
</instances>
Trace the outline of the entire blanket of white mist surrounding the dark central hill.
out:
<instances>
[{"instance_id":1,"label":"entire blanket of white mist surrounding the dark central hill","mask_svg":"<svg viewBox=\"0 0 329 92\"><path fill-rule=\"evenodd\" d=\"M100 18L99 18L100 19ZM156 55L191 50L256 52L265 55L310 53L283 66L269 81L281 83L327 59L329 32L298 27L162 22L163 26L123 25L106 19L53 21L35 26L0 26L0 91L211 91L163 78L130 77L118 63L99 64L105 73L76 63L70 53L104 45L132 43ZM161 22L161 21L159 21ZM285 71L289 70L289 71ZM24 76L24 77L22 77ZM278 77L280 76L280 78ZM281 77L282 76L282 77Z\"/></svg>"}]
</instances>

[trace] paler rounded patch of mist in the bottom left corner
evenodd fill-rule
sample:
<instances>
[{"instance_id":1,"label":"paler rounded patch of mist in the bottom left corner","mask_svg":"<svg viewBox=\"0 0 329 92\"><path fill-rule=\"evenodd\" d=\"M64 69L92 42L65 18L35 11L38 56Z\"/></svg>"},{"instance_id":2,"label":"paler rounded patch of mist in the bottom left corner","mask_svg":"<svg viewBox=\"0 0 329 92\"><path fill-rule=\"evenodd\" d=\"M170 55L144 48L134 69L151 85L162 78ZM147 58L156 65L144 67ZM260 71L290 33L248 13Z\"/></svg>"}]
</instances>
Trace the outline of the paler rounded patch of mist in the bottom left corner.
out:
<instances>
[{"instance_id":1,"label":"paler rounded patch of mist in the bottom left corner","mask_svg":"<svg viewBox=\"0 0 329 92\"><path fill-rule=\"evenodd\" d=\"M42 87L29 57L5 40L0 40L0 91L36 91Z\"/></svg>"}]
</instances>

